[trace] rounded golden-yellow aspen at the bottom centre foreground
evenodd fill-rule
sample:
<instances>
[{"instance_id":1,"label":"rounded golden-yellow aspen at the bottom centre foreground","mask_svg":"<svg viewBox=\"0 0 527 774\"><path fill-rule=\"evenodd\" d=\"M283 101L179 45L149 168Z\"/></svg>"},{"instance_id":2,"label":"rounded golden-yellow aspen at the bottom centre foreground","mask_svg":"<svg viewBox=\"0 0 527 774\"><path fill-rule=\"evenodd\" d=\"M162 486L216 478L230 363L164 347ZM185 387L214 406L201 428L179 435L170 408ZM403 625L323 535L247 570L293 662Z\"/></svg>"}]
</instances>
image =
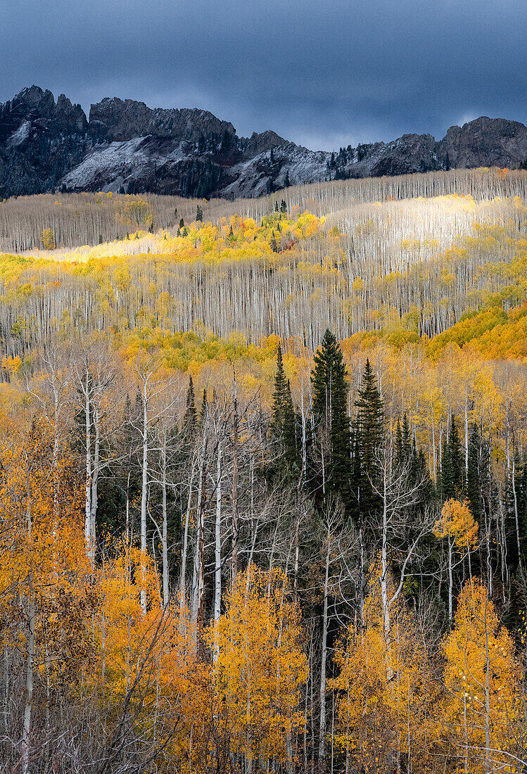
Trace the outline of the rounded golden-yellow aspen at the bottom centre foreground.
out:
<instances>
[{"instance_id":1,"label":"rounded golden-yellow aspen at the bottom centre foreground","mask_svg":"<svg viewBox=\"0 0 527 774\"><path fill-rule=\"evenodd\" d=\"M228 728L231 751L246 762L290 760L291 740L304 723L299 700L307 663L299 608L289 601L282 570L251 565L238 574L207 641L215 653L215 714Z\"/></svg>"}]
</instances>

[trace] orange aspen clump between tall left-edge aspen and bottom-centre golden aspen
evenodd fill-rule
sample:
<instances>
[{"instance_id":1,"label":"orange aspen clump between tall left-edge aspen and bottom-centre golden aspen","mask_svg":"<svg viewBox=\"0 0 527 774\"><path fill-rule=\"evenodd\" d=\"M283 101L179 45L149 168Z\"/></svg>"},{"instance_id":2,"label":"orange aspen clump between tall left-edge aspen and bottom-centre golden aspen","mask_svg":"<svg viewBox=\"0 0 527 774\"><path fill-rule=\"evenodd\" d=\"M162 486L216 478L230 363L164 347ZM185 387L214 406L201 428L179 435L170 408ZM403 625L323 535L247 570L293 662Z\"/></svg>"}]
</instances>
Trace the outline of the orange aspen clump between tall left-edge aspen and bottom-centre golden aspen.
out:
<instances>
[{"instance_id":1,"label":"orange aspen clump between tall left-edge aspen and bottom-centre golden aspen","mask_svg":"<svg viewBox=\"0 0 527 774\"><path fill-rule=\"evenodd\" d=\"M163 608L155 563L135 546L121 545L103 564L96 592L98 658L96 669L84 675L84 690L97 691L109 734L126 706L142 742L156 740L179 759L196 712L203 710L191 690L195 636L187 611L175 604Z\"/></svg>"}]
</instances>

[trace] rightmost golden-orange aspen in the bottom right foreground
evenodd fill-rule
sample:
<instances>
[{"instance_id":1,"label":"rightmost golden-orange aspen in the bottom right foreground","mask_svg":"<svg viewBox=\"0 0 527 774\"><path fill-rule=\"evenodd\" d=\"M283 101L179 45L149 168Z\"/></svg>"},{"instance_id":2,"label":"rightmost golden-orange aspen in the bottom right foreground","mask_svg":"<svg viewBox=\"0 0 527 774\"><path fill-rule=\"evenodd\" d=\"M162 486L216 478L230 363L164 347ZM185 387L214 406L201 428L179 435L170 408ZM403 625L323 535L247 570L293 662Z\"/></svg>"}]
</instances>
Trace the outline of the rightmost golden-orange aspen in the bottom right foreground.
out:
<instances>
[{"instance_id":1,"label":"rightmost golden-orange aspen in the bottom right foreground","mask_svg":"<svg viewBox=\"0 0 527 774\"><path fill-rule=\"evenodd\" d=\"M500 626L481 580L467 581L453 631L443 642L445 658L443 736L454 771L516 772L521 670L512 637Z\"/></svg>"}]
</instances>

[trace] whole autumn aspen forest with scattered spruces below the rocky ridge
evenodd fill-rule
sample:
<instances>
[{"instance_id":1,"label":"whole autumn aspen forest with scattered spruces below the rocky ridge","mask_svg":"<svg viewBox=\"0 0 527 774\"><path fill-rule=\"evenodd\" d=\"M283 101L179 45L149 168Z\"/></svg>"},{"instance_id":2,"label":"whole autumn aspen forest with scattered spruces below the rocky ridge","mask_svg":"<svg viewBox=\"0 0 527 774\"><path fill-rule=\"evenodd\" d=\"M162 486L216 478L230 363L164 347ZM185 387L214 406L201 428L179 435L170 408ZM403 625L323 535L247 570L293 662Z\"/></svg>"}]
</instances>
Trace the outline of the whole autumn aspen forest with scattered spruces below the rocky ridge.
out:
<instances>
[{"instance_id":1,"label":"whole autumn aspen forest with scattered spruces below the rocky ridge","mask_svg":"<svg viewBox=\"0 0 527 774\"><path fill-rule=\"evenodd\" d=\"M0 202L0 771L527 771L527 172Z\"/></svg>"}]
</instances>

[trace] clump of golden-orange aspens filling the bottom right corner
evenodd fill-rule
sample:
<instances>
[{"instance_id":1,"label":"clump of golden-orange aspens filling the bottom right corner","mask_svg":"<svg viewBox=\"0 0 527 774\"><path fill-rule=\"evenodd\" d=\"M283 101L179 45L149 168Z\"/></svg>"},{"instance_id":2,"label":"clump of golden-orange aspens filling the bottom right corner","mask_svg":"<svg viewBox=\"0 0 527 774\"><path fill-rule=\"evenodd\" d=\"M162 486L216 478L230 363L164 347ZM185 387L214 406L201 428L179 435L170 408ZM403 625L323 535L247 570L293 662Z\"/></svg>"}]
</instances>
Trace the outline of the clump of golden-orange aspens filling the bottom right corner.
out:
<instances>
[{"instance_id":1,"label":"clump of golden-orange aspens filling the bottom right corner","mask_svg":"<svg viewBox=\"0 0 527 774\"><path fill-rule=\"evenodd\" d=\"M364 626L340 640L336 663L335 741L348 770L386 772L399 760L407 771L433 772L438 756L449 772L518 770L522 670L481 580L465 584L438 656L419 615L402 604L386 642L372 588Z\"/></svg>"}]
</instances>

